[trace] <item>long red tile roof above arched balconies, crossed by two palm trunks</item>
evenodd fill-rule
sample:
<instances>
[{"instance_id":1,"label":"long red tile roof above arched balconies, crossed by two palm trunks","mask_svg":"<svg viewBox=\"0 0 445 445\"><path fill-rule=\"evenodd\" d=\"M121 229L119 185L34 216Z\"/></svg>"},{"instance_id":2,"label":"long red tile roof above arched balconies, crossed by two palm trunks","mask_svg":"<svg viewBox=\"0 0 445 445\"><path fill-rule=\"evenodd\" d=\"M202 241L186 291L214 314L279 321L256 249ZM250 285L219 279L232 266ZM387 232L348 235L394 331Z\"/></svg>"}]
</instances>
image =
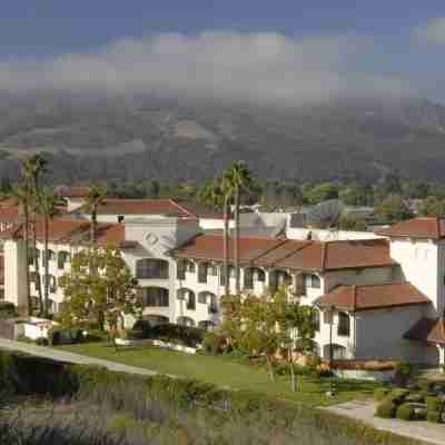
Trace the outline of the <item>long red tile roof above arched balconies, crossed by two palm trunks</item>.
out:
<instances>
[{"instance_id":1,"label":"long red tile roof above arched balconies, crossed by two palm trunks","mask_svg":"<svg viewBox=\"0 0 445 445\"><path fill-rule=\"evenodd\" d=\"M178 258L222 260L224 237L199 235L174 250ZM354 241L299 241L284 238L240 237L240 261L289 269L335 270L388 267L394 264L385 239ZM233 261L234 238L229 243Z\"/></svg>"}]
</instances>

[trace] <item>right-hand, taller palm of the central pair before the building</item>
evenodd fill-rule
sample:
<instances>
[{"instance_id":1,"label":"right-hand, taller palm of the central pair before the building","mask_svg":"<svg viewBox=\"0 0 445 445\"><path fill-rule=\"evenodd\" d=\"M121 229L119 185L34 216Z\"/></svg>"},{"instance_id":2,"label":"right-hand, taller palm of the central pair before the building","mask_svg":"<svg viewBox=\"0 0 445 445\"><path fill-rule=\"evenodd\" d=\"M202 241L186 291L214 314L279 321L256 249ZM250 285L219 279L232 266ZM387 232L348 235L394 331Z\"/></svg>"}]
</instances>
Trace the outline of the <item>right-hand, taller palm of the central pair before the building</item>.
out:
<instances>
[{"instance_id":1,"label":"right-hand, taller palm of the central pair before the building","mask_svg":"<svg viewBox=\"0 0 445 445\"><path fill-rule=\"evenodd\" d=\"M251 185L250 171L244 161L235 161L227 171L235 199L235 280L236 294L240 293L239 283L239 206L241 192Z\"/></svg>"}]
</instances>

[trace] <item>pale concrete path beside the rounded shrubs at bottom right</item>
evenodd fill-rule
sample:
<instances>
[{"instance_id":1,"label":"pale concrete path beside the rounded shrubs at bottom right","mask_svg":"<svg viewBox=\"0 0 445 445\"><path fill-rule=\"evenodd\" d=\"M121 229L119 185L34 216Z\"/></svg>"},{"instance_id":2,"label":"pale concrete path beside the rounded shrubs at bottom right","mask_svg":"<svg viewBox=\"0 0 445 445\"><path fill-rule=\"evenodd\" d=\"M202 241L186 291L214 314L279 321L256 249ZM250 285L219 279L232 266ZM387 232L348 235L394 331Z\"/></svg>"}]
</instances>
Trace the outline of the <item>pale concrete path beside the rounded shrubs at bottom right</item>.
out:
<instances>
[{"instance_id":1,"label":"pale concrete path beside the rounded shrubs at bottom right","mask_svg":"<svg viewBox=\"0 0 445 445\"><path fill-rule=\"evenodd\" d=\"M374 402L356 400L324 407L322 409L355 418L376 429L395 433L400 436L424 441L431 444L445 445L445 425L427 422L404 422L396 418L378 418L374 417L375 408L376 404Z\"/></svg>"}]
</instances>

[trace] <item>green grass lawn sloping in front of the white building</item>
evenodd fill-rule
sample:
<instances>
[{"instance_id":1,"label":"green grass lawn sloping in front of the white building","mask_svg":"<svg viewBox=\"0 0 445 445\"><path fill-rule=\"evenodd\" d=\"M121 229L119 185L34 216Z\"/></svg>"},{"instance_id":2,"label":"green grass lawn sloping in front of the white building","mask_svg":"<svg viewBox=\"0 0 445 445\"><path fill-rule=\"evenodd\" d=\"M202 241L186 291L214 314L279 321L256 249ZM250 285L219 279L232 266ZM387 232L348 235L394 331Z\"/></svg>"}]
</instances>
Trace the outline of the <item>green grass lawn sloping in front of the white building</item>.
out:
<instances>
[{"instance_id":1,"label":"green grass lawn sloping in front of the white building","mask_svg":"<svg viewBox=\"0 0 445 445\"><path fill-rule=\"evenodd\" d=\"M329 388L327 378L298 377L298 392L293 393L288 377L277 376L275 382L270 382L266 369L224 356L189 355L151 346L120 347L116 353L107 343L63 345L57 348L152 369L161 374L195 378L220 387L264 393L310 406L326 406L363 398L380 386L373 382L335 379L335 390L338 396L328 398L325 396L325 392Z\"/></svg>"}]
</instances>

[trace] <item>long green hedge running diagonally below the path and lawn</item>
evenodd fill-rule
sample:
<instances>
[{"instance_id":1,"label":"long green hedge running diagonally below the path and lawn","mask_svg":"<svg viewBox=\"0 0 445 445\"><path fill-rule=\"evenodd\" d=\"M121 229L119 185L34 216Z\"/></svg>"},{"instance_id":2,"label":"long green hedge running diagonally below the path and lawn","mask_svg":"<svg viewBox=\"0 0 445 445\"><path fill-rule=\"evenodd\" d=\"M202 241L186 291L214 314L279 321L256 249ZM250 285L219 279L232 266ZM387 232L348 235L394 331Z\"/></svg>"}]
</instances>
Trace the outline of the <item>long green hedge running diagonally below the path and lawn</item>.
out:
<instances>
[{"instance_id":1,"label":"long green hedge running diagonally below the path and lawn","mask_svg":"<svg viewBox=\"0 0 445 445\"><path fill-rule=\"evenodd\" d=\"M416 442L326 411L269 398L263 394L221 389L210 384L177 379L162 375L138 376L110 372L99 366L68 365L40 357L0 352L0 387L21 394L47 394L55 397L85 397L90 403L111 403L117 409L131 412L145 398L172 402L184 409L202 406L215 415L249 414L270 427L286 427L296 418L315 425L324 435L355 438L360 444L413 445ZM135 394L138 396L135 397ZM224 409L221 409L221 407ZM395 407L393 408L395 411Z\"/></svg>"}]
</instances>

